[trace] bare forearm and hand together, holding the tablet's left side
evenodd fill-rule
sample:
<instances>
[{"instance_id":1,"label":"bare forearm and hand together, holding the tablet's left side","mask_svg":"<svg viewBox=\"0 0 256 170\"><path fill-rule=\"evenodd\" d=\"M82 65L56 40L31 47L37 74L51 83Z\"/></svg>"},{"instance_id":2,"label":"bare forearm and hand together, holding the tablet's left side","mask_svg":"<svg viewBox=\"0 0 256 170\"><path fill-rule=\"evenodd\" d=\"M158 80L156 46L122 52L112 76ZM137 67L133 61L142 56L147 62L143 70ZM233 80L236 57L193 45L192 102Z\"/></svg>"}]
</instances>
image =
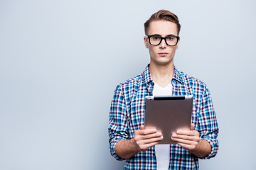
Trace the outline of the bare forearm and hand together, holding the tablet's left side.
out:
<instances>
[{"instance_id":1,"label":"bare forearm and hand together, holding the tablet's left side","mask_svg":"<svg viewBox=\"0 0 256 170\"><path fill-rule=\"evenodd\" d=\"M122 159L129 159L138 152L158 144L163 139L161 132L154 128L145 129L144 125L141 125L141 128L134 132L134 138L131 140L119 140L114 150Z\"/></svg>"}]
</instances>

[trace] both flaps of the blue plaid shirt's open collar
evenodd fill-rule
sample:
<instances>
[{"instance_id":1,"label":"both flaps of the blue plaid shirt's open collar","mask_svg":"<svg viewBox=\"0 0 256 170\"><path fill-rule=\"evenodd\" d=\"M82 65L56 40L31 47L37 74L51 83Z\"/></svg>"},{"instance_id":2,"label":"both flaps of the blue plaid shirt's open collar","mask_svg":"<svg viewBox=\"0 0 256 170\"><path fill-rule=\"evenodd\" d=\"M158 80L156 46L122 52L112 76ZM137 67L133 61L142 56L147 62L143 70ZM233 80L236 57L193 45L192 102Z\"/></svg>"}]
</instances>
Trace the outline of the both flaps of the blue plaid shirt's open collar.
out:
<instances>
[{"instance_id":1,"label":"both flaps of the blue plaid shirt's open collar","mask_svg":"<svg viewBox=\"0 0 256 170\"><path fill-rule=\"evenodd\" d=\"M142 77L143 77L143 81L146 84L153 83L153 79L152 79L151 73L149 71L149 64L146 66L146 69L144 70ZM178 81L179 83L183 84L183 78L181 76L181 72L179 72L178 69L175 66L174 66L174 77L173 77L173 79Z\"/></svg>"}]
</instances>

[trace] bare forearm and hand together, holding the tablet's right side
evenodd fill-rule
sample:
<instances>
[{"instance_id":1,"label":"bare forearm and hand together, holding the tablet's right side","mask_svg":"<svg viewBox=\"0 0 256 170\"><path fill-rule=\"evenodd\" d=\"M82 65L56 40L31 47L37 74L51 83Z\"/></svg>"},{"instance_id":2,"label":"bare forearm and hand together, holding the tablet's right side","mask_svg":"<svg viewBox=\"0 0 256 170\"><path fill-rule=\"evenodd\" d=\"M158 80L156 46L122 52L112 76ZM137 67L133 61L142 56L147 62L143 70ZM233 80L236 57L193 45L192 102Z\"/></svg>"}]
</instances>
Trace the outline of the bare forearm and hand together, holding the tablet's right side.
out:
<instances>
[{"instance_id":1,"label":"bare forearm and hand together, holding the tablet's right side","mask_svg":"<svg viewBox=\"0 0 256 170\"><path fill-rule=\"evenodd\" d=\"M206 157L211 152L210 143L206 140L200 140L199 132L193 130L194 128L195 124L191 123L190 130L177 130L171 135L171 140L197 157Z\"/></svg>"}]
</instances>

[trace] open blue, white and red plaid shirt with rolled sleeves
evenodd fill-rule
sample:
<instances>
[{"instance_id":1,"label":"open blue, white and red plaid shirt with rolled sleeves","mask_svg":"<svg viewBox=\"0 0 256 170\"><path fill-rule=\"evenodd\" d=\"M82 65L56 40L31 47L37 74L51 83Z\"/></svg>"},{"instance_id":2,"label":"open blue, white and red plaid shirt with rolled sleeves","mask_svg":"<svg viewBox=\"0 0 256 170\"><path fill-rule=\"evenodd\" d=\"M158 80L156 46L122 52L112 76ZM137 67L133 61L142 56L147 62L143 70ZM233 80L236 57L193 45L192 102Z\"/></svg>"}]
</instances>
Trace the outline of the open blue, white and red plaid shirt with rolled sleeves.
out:
<instances>
[{"instance_id":1,"label":"open blue, white and red plaid shirt with rolled sleeves","mask_svg":"<svg viewBox=\"0 0 256 170\"><path fill-rule=\"evenodd\" d=\"M193 113L191 122L200 138L210 143L211 152L203 159L215 157L218 152L218 124L213 110L210 92L202 81L178 72L174 67L174 77L171 80L173 95L193 95ZM134 137L134 131L144 125L144 98L152 95L154 82L149 72L149 65L137 77L119 84L114 91L110 108L110 152L117 160L121 159L114 146L119 140L129 140ZM154 146L144 152L139 152L126 159L124 169L156 169ZM170 147L169 169L198 169L198 157L179 145Z\"/></svg>"}]
</instances>

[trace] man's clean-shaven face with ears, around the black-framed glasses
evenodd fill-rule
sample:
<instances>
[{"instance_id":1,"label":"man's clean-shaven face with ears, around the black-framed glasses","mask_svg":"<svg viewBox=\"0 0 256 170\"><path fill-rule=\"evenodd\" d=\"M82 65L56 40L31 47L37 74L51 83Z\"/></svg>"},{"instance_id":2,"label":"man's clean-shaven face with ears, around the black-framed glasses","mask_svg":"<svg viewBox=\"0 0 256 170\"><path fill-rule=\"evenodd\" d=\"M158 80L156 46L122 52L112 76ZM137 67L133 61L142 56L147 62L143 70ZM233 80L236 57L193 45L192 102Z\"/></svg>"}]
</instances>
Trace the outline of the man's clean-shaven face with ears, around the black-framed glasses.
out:
<instances>
[{"instance_id":1,"label":"man's clean-shaven face with ears, around the black-framed glasses","mask_svg":"<svg viewBox=\"0 0 256 170\"><path fill-rule=\"evenodd\" d=\"M151 21L148 28L148 35L160 35L163 38L168 35L178 36L178 29L176 24L170 21ZM178 48L178 43L176 46L169 46L162 40L159 45L150 45L149 39L146 37L144 37L144 43L146 48L149 48L151 64L174 64L174 55Z\"/></svg>"}]
</instances>

